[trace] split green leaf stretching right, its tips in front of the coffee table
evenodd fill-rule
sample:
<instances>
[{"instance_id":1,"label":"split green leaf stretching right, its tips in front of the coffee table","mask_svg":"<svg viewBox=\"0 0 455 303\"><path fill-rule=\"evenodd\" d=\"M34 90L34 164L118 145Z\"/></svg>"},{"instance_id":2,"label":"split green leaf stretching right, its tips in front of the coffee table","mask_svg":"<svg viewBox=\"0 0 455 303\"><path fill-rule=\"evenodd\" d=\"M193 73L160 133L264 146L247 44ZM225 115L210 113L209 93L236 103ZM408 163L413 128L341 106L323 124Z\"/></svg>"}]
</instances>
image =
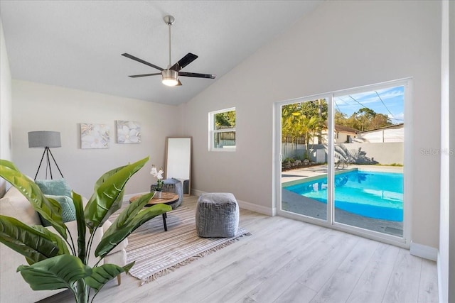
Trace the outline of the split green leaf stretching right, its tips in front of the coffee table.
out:
<instances>
[{"instance_id":1,"label":"split green leaf stretching right, its tips in front of the coffee table","mask_svg":"<svg viewBox=\"0 0 455 303\"><path fill-rule=\"evenodd\" d=\"M172 207L166 204L156 204L144 208L144 205L149 202L153 194L154 192L137 199L117 216L117 219L102 236L95 250L95 256L104 258L109 251L122 242L124 238L127 238L136 228L146 221L172 210Z\"/></svg>"}]
</instances>

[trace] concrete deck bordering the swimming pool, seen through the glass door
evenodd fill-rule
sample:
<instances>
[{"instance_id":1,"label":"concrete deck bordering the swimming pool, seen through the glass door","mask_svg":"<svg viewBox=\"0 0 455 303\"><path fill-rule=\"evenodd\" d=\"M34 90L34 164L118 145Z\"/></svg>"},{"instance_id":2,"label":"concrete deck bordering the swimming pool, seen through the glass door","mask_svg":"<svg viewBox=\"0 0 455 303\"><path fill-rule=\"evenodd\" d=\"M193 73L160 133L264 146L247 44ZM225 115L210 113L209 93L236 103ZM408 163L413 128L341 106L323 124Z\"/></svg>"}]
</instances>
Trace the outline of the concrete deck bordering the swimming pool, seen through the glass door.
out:
<instances>
[{"instance_id":1,"label":"concrete deck bordering the swimming pool, seen through the glass door","mask_svg":"<svg viewBox=\"0 0 455 303\"><path fill-rule=\"evenodd\" d=\"M348 171L354 168L377 172L403 172L403 167L380 165L349 165L349 167L343 170L336 170L336 172ZM297 183L299 180L326 175L326 173L326 165L287 170L282 172L282 183ZM287 189L282 189L282 209L322 220L326 220L327 217L327 204L290 192ZM370 231L379 231L393 236L402 236L403 234L403 223L399 221L372 219L341 209L335 210L335 218L339 223L365 228Z\"/></svg>"}]
</instances>

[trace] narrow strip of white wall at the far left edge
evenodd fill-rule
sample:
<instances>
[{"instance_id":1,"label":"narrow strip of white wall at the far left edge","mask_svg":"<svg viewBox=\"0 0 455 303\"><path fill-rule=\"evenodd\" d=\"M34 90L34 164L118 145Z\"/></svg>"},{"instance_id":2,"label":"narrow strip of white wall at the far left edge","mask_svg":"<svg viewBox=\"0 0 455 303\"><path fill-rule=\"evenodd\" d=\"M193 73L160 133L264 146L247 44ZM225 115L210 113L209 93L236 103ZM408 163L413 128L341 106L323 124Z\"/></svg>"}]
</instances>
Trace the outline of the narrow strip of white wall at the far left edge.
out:
<instances>
[{"instance_id":1,"label":"narrow strip of white wall at the far left edge","mask_svg":"<svg viewBox=\"0 0 455 303\"><path fill-rule=\"evenodd\" d=\"M11 160L11 71L6 52L3 24L0 19L0 159ZM0 197L4 195L6 181L0 178Z\"/></svg>"}]
</instances>

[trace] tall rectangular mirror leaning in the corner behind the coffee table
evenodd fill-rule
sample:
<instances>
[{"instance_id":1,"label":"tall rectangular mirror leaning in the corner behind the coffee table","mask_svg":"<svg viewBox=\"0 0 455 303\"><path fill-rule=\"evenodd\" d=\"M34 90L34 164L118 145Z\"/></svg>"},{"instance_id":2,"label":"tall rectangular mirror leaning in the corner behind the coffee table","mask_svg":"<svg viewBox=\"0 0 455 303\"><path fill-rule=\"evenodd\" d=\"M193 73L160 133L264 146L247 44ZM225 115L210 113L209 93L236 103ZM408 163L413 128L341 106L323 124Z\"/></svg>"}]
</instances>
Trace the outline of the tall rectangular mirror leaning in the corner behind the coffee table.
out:
<instances>
[{"instance_id":1,"label":"tall rectangular mirror leaning in the corner behind the coffee table","mask_svg":"<svg viewBox=\"0 0 455 303\"><path fill-rule=\"evenodd\" d=\"M181 180L183 194L191 194L191 137L166 138L166 179Z\"/></svg>"}]
</instances>

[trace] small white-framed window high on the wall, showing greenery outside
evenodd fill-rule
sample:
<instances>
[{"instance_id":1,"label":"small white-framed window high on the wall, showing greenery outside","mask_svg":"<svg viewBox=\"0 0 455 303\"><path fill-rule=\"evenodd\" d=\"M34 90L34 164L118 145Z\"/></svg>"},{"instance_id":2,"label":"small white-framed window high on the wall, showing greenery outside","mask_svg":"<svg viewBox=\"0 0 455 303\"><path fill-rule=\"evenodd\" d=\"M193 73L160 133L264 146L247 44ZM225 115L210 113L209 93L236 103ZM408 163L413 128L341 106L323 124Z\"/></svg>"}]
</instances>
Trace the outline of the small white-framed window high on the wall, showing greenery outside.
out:
<instances>
[{"instance_id":1,"label":"small white-framed window high on the wall, showing greenery outside","mask_svg":"<svg viewBox=\"0 0 455 303\"><path fill-rule=\"evenodd\" d=\"M209 150L235 151L235 107L208 114Z\"/></svg>"}]
</instances>

